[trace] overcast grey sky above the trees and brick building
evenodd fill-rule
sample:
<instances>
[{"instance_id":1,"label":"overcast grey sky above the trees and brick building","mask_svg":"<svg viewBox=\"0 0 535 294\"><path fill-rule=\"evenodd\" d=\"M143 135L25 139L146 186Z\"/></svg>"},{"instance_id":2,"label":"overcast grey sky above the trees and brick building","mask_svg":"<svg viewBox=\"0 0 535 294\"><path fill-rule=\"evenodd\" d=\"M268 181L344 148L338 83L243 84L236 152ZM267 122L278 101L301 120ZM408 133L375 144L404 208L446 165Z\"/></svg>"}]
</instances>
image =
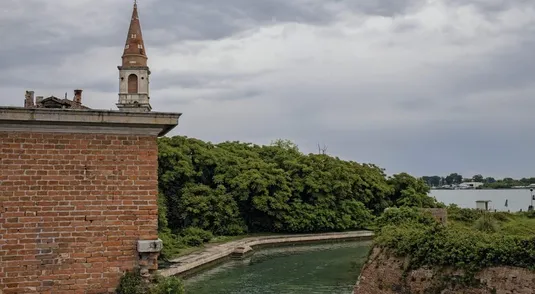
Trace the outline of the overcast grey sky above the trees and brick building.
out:
<instances>
[{"instance_id":1,"label":"overcast grey sky above the trees and brick building","mask_svg":"<svg viewBox=\"0 0 535 294\"><path fill-rule=\"evenodd\" d=\"M1 0L0 105L116 109L130 0ZM139 0L169 135L270 144L388 174L535 176L533 0Z\"/></svg>"}]
</instances>

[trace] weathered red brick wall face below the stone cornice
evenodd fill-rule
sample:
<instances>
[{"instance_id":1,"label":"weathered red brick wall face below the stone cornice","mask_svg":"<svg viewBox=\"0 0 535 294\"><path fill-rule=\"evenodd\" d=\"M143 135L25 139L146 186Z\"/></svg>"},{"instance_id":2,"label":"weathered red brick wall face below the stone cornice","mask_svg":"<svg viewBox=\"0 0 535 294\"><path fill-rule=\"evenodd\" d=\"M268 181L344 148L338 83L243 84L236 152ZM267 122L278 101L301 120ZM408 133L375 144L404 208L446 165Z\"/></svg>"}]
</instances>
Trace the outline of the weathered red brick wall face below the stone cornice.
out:
<instances>
[{"instance_id":1,"label":"weathered red brick wall face below the stone cornice","mask_svg":"<svg viewBox=\"0 0 535 294\"><path fill-rule=\"evenodd\" d=\"M0 293L105 293L157 239L156 137L0 132Z\"/></svg>"}]
</instances>

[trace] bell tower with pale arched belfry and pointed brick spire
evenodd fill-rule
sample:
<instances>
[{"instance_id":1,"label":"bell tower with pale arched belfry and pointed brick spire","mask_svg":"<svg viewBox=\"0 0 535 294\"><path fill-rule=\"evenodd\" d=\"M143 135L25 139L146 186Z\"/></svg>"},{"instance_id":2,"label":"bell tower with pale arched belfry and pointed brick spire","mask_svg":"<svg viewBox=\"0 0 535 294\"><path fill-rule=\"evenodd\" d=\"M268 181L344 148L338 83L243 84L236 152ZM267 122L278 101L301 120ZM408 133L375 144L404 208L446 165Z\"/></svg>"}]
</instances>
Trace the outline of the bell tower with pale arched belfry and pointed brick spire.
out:
<instances>
[{"instance_id":1,"label":"bell tower with pale arched belfry and pointed brick spire","mask_svg":"<svg viewBox=\"0 0 535 294\"><path fill-rule=\"evenodd\" d=\"M149 97L149 75L147 54L141 34L141 24L134 2L130 28L126 36L126 44L119 69L119 103L121 111L148 112L151 111Z\"/></svg>"}]
</instances>

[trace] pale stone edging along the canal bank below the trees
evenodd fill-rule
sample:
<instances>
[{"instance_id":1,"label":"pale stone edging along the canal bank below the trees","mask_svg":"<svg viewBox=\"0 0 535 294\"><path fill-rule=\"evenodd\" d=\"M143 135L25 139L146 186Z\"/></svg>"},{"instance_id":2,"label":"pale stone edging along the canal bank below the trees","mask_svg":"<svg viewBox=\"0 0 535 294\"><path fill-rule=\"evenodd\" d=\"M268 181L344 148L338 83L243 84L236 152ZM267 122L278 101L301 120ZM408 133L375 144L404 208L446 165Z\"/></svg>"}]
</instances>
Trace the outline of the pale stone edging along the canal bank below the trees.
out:
<instances>
[{"instance_id":1,"label":"pale stone edging along the canal bank below the trees","mask_svg":"<svg viewBox=\"0 0 535 294\"><path fill-rule=\"evenodd\" d=\"M159 270L158 272L164 276L176 276L191 270L194 270L203 265L215 262L219 259L230 256L237 247L242 246L259 246L270 244L284 244L284 243L299 243L299 242L314 242L314 241L328 241L328 240L348 240L348 239L371 239L374 233L371 231L353 231L342 233L324 233L324 234L301 234L301 235L281 235L281 236L265 236L265 237L250 237L241 240L231 241L217 246L206 248L197 253L192 253L173 260L175 263L170 268Z\"/></svg>"}]
</instances>

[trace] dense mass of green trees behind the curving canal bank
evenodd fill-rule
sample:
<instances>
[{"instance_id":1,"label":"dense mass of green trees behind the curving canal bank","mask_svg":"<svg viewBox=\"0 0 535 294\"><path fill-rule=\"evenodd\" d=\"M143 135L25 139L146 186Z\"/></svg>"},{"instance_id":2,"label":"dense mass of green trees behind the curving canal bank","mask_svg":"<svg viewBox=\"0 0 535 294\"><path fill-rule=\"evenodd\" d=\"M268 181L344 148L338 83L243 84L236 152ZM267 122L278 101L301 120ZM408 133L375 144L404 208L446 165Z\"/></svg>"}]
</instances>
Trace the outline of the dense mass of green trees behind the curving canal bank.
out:
<instances>
[{"instance_id":1,"label":"dense mass of green trees behind the curving canal bank","mask_svg":"<svg viewBox=\"0 0 535 294\"><path fill-rule=\"evenodd\" d=\"M162 138L159 186L171 230L218 235L359 229L386 207L436 205L425 182L408 174L387 178L375 165L305 155L284 140Z\"/></svg>"}]
</instances>

